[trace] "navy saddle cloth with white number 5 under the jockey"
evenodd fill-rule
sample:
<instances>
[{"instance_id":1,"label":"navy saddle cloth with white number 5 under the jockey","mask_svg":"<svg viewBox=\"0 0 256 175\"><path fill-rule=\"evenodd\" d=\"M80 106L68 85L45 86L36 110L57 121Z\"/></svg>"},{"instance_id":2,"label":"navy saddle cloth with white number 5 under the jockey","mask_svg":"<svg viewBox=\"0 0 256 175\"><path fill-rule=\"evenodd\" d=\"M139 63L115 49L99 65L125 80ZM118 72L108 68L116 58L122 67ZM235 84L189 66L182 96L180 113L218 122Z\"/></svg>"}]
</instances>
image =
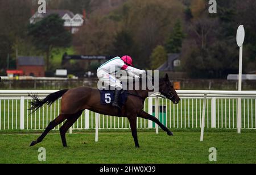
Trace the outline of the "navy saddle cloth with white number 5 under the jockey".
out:
<instances>
[{"instance_id":1,"label":"navy saddle cloth with white number 5 under the jockey","mask_svg":"<svg viewBox=\"0 0 256 175\"><path fill-rule=\"evenodd\" d=\"M101 93L101 105L112 105L112 103L114 102L114 90L100 90ZM118 104L120 107L122 107L123 105L125 105L126 101L127 101L127 91L126 90L122 90L120 95L119 95L119 99L118 99Z\"/></svg>"}]
</instances>

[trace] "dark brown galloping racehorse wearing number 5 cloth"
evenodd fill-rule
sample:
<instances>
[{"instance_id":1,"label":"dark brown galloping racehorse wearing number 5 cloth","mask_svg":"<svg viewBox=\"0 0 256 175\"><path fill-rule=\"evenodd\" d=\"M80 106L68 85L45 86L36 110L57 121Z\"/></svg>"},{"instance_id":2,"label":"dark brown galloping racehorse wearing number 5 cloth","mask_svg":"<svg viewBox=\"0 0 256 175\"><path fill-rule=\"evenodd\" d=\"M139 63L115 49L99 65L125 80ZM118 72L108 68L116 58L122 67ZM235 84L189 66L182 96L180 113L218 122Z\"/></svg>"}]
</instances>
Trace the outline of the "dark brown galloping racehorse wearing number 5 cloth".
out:
<instances>
[{"instance_id":1,"label":"dark brown galloping racehorse wearing number 5 cloth","mask_svg":"<svg viewBox=\"0 0 256 175\"><path fill-rule=\"evenodd\" d=\"M56 93L49 94L45 99L40 100L34 95L35 101L31 103L32 110L36 111L42 107L45 103L51 105L58 98L61 99L61 112L55 120L49 123L43 134L36 140L32 141L30 146L40 143L44 137L55 128L61 122L65 123L60 128L60 136L63 143L63 147L67 147L65 134L68 129L73 126L77 119L84 110L90 110L95 113L104 115L112 115L118 117L126 117L129 119L131 132L135 141L135 147L139 148L138 136L137 136L137 116L143 119L152 120L160 126L168 135L172 136L172 132L168 130L162 123L159 122L154 116L147 114L143 111L144 101L148 97L150 90L129 90L129 96L126 104L122 107L121 113L112 106L101 105L100 103L100 91L90 87L79 87L71 90L60 90ZM180 101L174 86L169 80L168 74L162 80L159 80L159 92L166 98L170 99L173 103L177 104Z\"/></svg>"}]
</instances>

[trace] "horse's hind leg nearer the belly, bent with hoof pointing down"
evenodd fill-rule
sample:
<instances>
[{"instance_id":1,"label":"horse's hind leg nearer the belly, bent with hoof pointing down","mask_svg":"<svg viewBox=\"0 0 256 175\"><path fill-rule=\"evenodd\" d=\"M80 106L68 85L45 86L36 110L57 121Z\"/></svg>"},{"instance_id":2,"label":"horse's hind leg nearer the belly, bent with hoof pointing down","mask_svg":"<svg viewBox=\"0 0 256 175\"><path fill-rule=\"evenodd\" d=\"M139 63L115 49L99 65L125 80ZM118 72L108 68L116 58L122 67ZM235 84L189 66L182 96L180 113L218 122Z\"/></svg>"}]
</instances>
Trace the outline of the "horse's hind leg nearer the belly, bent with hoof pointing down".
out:
<instances>
[{"instance_id":1,"label":"horse's hind leg nearer the belly, bent with hoof pointing down","mask_svg":"<svg viewBox=\"0 0 256 175\"><path fill-rule=\"evenodd\" d=\"M81 116L82 111L79 113L76 113L74 115L71 115L67 121L63 124L63 126L60 127L60 136L61 136L61 141L63 144L63 147L68 147L67 141L66 141L66 132L68 129L76 122L77 119Z\"/></svg>"}]
</instances>

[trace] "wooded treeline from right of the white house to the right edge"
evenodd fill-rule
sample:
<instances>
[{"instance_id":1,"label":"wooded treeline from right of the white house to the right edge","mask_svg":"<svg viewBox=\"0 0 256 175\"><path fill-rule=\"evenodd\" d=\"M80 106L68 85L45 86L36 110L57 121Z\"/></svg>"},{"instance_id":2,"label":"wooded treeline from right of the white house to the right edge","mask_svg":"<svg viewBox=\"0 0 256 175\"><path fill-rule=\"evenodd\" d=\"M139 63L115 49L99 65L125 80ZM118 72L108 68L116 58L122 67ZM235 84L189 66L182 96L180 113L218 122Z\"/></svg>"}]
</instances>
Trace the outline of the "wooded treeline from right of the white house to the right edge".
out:
<instances>
[{"instance_id":1,"label":"wooded treeline from right of the white house to the right edge","mask_svg":"<svg viewBox=\"0 0 256 175\"><path fill-rule=\"evenodd\" d=\"M238 72L237 27L246 29L243 71L256 70L256 2L130 0L108 14L91 16L75 36L80 53L134 57L139 68L156 69L167 53L181 53L178 70L191 77L226 78Z\"/></svg>"}]
</instances>

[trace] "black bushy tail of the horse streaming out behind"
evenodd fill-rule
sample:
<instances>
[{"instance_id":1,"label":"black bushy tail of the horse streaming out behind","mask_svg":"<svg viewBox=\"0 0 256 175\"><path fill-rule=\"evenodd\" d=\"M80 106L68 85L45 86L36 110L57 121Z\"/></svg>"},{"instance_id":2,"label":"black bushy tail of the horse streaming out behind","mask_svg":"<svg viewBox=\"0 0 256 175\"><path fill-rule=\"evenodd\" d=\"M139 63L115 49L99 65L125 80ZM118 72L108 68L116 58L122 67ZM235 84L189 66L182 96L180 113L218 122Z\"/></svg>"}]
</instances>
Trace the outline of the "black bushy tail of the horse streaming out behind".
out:
<instances>
[{"instance_id":1,"label":"black bushy tail of the horse streaming out behind","mask_svg":"<svg viewBox=\"0 0 256 175\"><path fill-rule=\"evenodd\" d=\"M59 99L65 93L67 93L67 91L68 91L68 89L63 89L63 90L57 91L56 93L49 94L43 100L40 100L37 94L29 94L34 99L34 101L30 102L31 108L28 110L32 110L32 113L34 113L36 110L38 110L44 104L52 105L52 103L54 103L57 99Z\"/></svg>"}]
</instances>

